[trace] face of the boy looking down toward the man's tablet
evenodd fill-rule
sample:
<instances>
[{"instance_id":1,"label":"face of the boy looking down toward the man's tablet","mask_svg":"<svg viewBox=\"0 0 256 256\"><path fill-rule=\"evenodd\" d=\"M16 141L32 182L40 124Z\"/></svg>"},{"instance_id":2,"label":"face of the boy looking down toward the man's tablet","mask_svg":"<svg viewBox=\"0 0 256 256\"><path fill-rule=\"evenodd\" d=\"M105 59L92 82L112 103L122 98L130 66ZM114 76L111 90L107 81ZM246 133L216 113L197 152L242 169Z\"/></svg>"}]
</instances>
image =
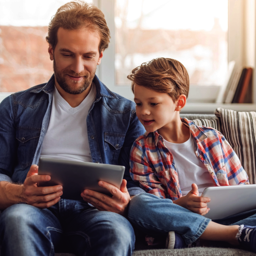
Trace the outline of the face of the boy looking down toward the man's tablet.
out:
<instances>
[{"instance_id":1,"label":"face of the boy looking down toward the man's tablet","mask_svg":"<svg viewBox=\"0 0 256 256\"><path fill-rule=\"evenodd\" d=\"M158 93L135 84L136 114L146 131L153 132L174 122L179 112L177 102L166 93Z\"/></svg>"}]
</instances>

